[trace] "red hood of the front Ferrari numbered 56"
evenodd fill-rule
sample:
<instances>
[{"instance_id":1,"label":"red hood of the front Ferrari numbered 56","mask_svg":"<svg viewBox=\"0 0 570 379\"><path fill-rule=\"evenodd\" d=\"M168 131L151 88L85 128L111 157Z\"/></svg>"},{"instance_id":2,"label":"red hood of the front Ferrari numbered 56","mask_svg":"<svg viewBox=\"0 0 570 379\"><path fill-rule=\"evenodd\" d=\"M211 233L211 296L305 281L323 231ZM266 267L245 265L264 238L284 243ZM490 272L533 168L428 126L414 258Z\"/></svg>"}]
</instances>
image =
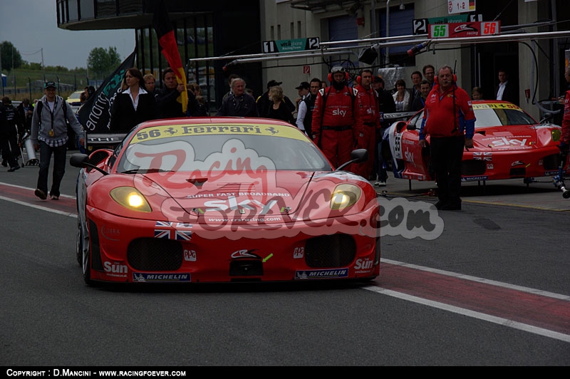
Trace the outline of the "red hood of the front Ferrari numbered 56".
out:
<instances>
[{"instance_id":1,"label":"red hood of the front Ferrari numbered 56","mask_svg":"<svg viewBox=\"0 0 570 379\"><path fill-rule=\"evenodd\" d=\"M209 224L217 219L220 223L227 222L228 217L257 222L264 218L267 224L282 223L301 219L308 213L315 217L315 212L323 212L322 217L326 218L336 185L350 181L362 188L370 186L362 177L349 172L171 174L153 173L145 177L160 185L177 207L191 215L193 222L207 217ZM304 210L307 208L309 211ZM358 209L353 212L358 212Z\"/></svg>"}]
</instances>

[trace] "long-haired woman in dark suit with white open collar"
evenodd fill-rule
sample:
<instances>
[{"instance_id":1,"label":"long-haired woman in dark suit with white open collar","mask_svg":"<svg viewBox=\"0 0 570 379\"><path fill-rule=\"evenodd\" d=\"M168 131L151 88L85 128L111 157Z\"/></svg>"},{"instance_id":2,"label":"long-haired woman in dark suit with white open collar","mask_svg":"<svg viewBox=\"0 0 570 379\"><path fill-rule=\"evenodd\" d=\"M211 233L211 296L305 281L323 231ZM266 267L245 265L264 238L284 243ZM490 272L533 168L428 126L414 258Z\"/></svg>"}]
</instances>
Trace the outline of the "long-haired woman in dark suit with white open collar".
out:
<instances>
[{"instance_id":1,"label":"long-haired woman in dark suit with white open collar","mask_svg":"<svg viewBox=\"0 0 570 379\"><path fill-rule=\"evenodd\" d=\"M110 130L128 132L142 121L156 118L155 97L147 92L138 68L128 68L121 89L111 108Z\"/></svg>"}]
</instances>

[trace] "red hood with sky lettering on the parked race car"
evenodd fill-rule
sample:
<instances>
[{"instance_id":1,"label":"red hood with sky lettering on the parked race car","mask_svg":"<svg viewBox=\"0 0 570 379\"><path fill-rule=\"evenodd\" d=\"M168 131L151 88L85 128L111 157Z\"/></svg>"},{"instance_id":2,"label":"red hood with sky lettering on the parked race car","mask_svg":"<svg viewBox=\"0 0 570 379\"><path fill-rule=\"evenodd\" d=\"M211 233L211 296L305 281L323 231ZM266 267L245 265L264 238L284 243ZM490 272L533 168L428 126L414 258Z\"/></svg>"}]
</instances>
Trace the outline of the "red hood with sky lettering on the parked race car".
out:
<instances>
[{"instance_id":1,"label":"red hood with sky lettering on the parked race car","mask_svg":"<svg viewBox=\"0 0 570 379\"><path fill-rule=\"evenodd\" d=\"M489 151L525 150L542 145L537 138L536 125L477 128L473 142L480 150Z\"/></svg>"}]
</instances>

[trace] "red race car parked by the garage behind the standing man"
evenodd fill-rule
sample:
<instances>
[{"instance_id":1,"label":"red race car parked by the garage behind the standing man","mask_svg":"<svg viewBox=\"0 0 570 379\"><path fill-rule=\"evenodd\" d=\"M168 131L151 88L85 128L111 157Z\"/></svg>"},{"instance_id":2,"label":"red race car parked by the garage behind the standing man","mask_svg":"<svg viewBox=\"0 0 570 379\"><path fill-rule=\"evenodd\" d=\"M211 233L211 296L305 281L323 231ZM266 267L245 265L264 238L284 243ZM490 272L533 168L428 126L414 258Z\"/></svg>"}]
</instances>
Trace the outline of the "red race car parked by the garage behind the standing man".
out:
<instances>
[{"instance_id":1,"label":"red race car parked by the garage behind the standing man","mask_svg":"<svg viewBox=\"0 0 570 379\"><path fill-rule=\"evenodd\" d=\"M539 123L506 101L474 100L472 105L477 121L473 147L463 152L462 181L524 178L529 183L534 177L558 174L560 126ZM429 147L423 149L418 142L422 118L420 110L386 130L382 152L388 153L384 157L391 160L394 177L435 180ZM429 135L426 140L429 144Z\"/></svg>"}]
</instances>

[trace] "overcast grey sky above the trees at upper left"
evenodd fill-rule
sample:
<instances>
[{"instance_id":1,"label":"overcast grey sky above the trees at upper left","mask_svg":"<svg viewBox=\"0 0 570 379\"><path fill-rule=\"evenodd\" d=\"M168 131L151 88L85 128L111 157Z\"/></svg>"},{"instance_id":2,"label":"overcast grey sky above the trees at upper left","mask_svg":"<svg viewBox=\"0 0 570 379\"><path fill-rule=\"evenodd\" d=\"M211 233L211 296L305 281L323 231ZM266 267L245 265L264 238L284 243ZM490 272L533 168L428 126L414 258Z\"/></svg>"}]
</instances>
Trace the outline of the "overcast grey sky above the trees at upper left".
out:
<instances>
[{"instance_id":1,"label":"overcast grey sky above the trees at upper left","mask_svg":"<svg viewBox=\"0 0 570 379\"><path fill-rule=\"evenodd\" d=\"M121 61L135 49L134 29L68 31L58 28L56 0L0 0L0 43L44 66L87 67L93 48L116 47ZM6 70L3 70L6 73Z\"/></svg>"}]
</instances>

